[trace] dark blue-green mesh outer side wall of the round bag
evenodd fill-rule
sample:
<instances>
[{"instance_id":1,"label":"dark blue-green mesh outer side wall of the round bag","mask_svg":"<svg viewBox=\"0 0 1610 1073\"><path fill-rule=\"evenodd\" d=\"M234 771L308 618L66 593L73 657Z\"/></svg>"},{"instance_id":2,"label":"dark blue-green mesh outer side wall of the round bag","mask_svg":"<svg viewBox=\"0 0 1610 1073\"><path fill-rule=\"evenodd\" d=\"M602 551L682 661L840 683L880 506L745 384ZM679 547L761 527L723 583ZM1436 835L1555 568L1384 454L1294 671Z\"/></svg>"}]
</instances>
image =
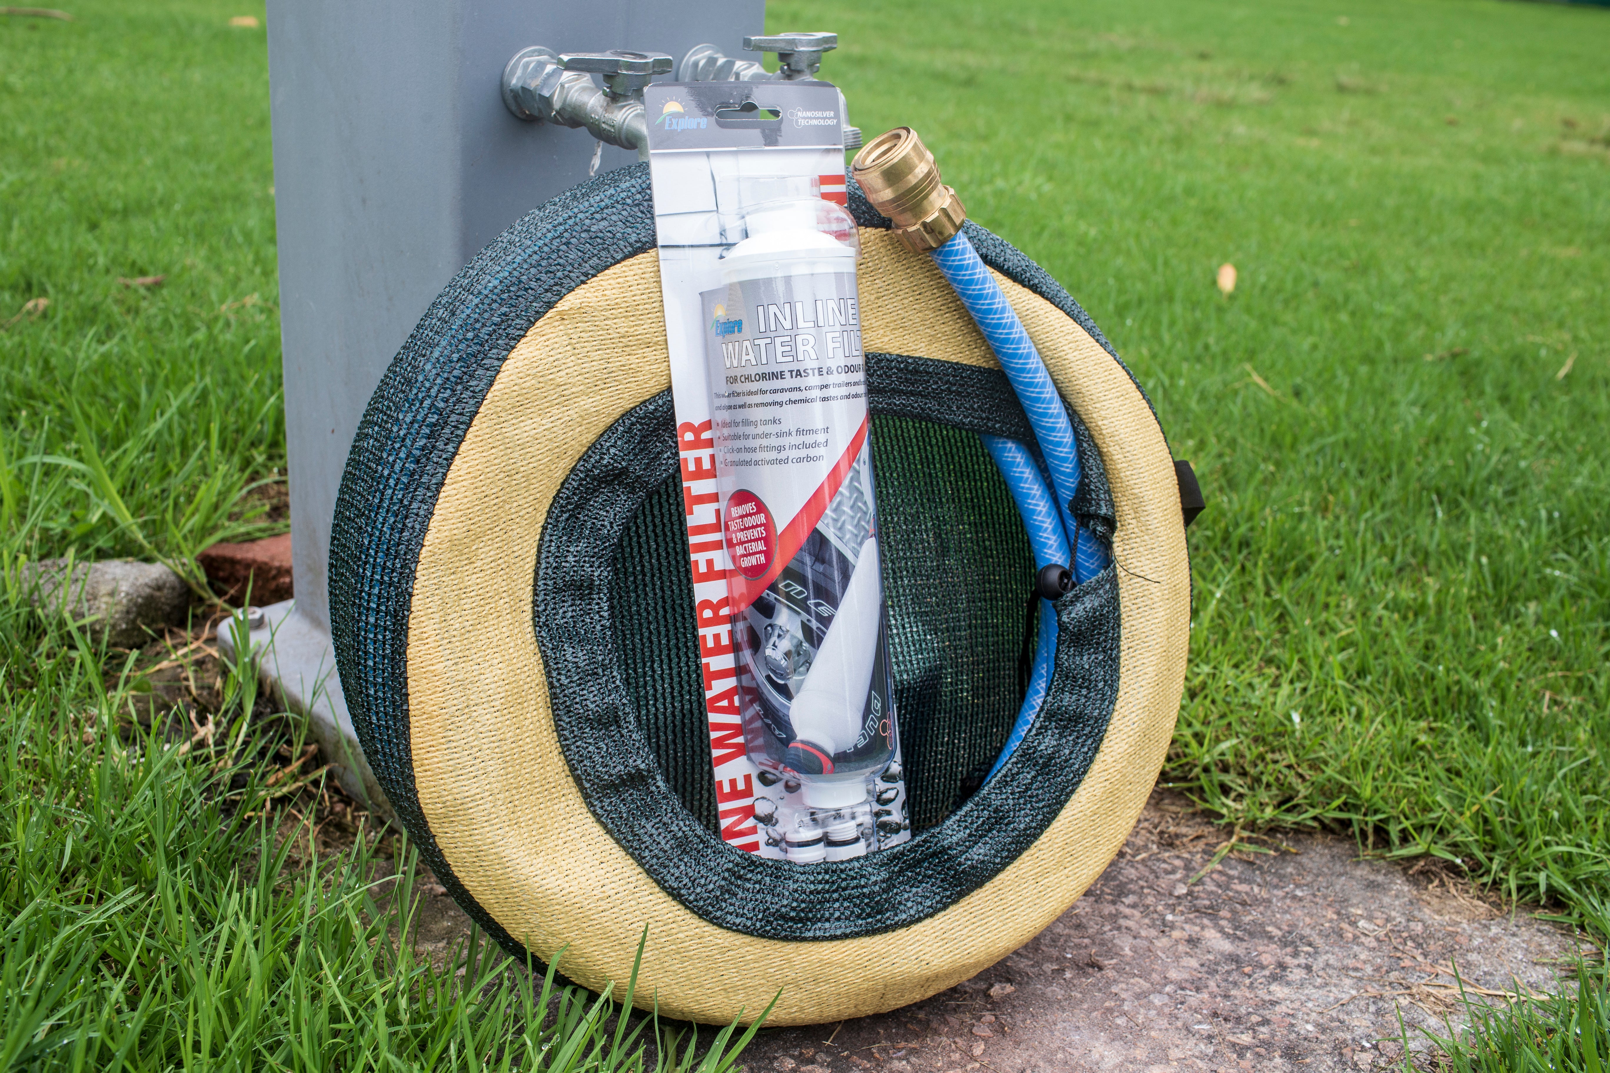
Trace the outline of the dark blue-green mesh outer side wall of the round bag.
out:
<instances>
[{"instance_id":1,"label":"dark blue-green mesh outer side wall of the round bag","mask_svg":"<svg viewBox=\"0 0 1610 1073\"><path fill-rule=\"evenodd\" d=\"M848 185L857 220L889 227L853 180ZM1050 301L1117 359L1084 309L1029 257L972 224L968 235L987 264ZM336 500L332 637L365 759L436 877L517 954L522 944L464 888L420 809L407 697L412 578L448 470L514 346L560 298L654 241L649 174L639 164L554 198L488 245L436 298L382 378ZM1098 516L1104 508L1111 516L1109 500L1090 499L1101 494L1082 487L1079 513Z\"/></svg>"}]
</instances>

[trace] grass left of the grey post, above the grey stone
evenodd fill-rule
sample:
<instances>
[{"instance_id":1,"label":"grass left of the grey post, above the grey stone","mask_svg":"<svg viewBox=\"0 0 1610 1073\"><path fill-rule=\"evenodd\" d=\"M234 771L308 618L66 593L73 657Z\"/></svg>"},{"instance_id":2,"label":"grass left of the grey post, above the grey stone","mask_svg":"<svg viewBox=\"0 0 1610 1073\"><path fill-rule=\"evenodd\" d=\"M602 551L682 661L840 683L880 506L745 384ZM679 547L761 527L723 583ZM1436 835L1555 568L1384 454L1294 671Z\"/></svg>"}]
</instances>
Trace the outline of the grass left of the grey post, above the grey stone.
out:
<instances>
[{"instance_id":1,"label":"grass left of the grey post, above the grey stone","mask_svg":"<svg viewBox=\"0 0 1610 1073\"><path fill-rule=\"evenodd\" d=\"M0 18L0 323L18 317L0 333L0 532L16 552L182 566L259 532L240 492L285 467L274 167L264 35L235 13Z\"/></svg>"}]
</instances>

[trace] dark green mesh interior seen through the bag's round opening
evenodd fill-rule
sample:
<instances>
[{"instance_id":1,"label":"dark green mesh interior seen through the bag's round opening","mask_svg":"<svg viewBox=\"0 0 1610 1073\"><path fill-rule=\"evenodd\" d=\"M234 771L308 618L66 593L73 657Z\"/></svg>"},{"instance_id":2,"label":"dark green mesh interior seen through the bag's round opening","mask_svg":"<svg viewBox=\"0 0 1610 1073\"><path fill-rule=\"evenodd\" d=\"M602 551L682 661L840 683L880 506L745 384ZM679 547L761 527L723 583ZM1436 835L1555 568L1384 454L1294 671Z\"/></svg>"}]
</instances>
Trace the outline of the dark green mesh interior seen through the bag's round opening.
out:
<instances>
[{"instance_id":1,"label":"dark green mesh interior seen through the bag's round opening","mask_svg":"<svg viewBox=\"0 0 1610 1073\"><path fill-rule=\"evenodd\" d=\"M895 703L916 832L960 804L963 787L1000 753L1018 716L1018 656L1034 553L1011 492L977 434L1035 447L998 373L895 354L868 356L873 473ZM1084 421L1082 521L1103 539L1113 502ZM642 502L615 549L610 623L639 727L667 783L718 830L704 685L694 631L681 484Z\"/></svg>"}]
</instances>

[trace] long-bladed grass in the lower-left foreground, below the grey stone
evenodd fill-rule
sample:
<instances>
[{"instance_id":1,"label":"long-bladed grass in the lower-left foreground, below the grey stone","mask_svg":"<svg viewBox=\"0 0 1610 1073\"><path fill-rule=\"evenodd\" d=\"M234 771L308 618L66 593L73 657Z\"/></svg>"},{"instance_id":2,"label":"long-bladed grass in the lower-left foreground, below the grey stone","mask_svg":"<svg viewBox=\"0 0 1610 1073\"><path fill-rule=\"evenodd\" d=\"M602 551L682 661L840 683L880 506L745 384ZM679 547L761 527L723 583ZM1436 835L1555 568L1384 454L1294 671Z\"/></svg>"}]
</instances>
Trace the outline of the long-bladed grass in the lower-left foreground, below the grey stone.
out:
<instances>
[{"instance_id":1,"label":"long-bladed grass in the lower-left foreground, below the grey stone","mask_svg":"<svg viewBox=\"0 0 1610 1073\"><path fill-rule=\"evenodd\" d=\"M723 1073L758 1028L700 1041L618 1017L609 991L514 972L477 931L441 960L419 954L412 846L361 830L333 859L293 856L312 814L283 806L309 795L275 779L272 750L301 742L254 703L254 674L229 669L213 745L185 751L129 719L132 656L42 627L14 597L0 600L0 1068Z\"/></svg>"}]
</instances>

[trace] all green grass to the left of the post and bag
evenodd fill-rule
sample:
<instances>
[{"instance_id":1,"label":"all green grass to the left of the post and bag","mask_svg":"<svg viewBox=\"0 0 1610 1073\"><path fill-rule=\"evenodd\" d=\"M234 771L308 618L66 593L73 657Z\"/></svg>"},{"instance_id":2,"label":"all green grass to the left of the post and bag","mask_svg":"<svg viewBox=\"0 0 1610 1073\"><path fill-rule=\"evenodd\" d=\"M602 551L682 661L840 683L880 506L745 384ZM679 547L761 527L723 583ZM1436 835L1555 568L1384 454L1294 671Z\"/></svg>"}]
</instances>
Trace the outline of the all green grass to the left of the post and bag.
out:
<instances>
[{"instance_id":1,"label":"all green grass to the left of the post and bag","mask_svg":"<svg viewBox=\"0 0 1610 1073\"><path fill-rule=\"evenodd\" d=\"M285 458L267 56L227 24L262 10L72 13L0 18L0 1068L729 1068L749 1036L628 1028L477 935L419 954L412 848L291 856L301 727L251 676L182 753L130 719L151 658L21 600L60 553L200 582Z\"/></svg>"}]
</instances>

